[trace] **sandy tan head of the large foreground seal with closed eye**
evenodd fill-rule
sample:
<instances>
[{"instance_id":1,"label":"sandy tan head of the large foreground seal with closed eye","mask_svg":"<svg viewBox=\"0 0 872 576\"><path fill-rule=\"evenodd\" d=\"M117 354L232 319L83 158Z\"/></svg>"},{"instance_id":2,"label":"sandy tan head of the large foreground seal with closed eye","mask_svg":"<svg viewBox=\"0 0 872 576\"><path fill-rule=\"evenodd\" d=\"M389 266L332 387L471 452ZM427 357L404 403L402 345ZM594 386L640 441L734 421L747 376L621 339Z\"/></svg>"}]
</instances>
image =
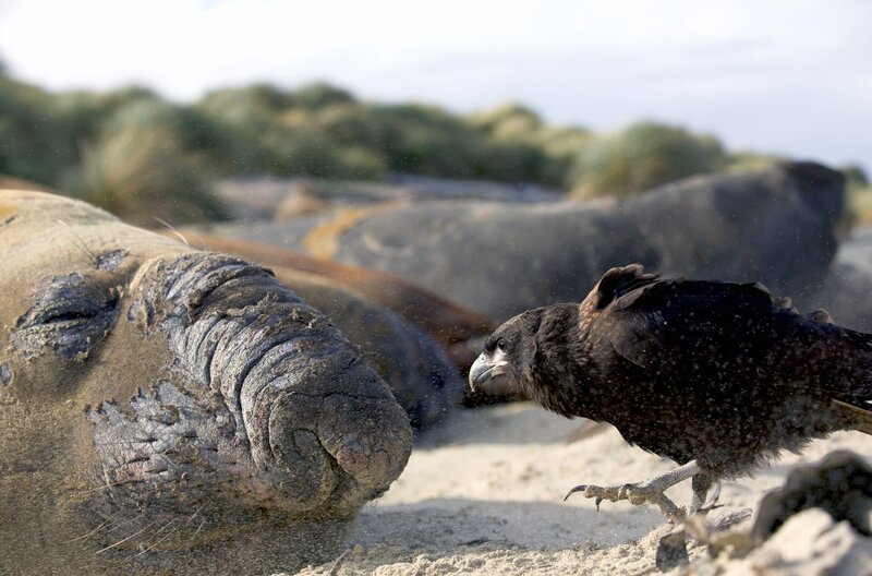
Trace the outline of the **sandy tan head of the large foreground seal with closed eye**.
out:
<instances>
[{"instance_id":1,"label":"sandy tan head of the large foreground seal with closed eye","mask_svg":"<svg viewBox=\"0 0 872 576\"><path fill-rule=\"evenodd\" d=\"M259 574L329 556L411 428L256 266L0 192L0 550L15 574Z\"/></svg>"}]
</instances>

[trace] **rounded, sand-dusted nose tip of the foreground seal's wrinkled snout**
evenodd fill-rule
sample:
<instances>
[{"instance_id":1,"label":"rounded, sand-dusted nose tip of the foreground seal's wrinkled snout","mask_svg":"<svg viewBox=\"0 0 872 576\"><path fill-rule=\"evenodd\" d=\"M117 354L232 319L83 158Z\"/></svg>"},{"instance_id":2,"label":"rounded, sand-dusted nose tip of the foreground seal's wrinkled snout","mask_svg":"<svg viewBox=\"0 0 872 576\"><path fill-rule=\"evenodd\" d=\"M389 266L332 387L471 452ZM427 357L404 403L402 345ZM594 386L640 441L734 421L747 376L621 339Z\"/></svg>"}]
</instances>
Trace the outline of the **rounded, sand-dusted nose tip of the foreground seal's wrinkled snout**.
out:
<instances>
[{"instance_id":1,"label":"rounded, sand-dusted nose tip of the foreground seal's wrinkled snout","mask_svg":"<svg viewBox=\"0 0 872 576\"><path fill-rule=\"evenodd\" d=\"M383 383L363 365L341 370L322 359L295 385L280 377L256 394L243 387L243 413L262 479L287 504L329 502L353 508L380 494L399 476L411 429Z\"/></svg>"}]
</instances>

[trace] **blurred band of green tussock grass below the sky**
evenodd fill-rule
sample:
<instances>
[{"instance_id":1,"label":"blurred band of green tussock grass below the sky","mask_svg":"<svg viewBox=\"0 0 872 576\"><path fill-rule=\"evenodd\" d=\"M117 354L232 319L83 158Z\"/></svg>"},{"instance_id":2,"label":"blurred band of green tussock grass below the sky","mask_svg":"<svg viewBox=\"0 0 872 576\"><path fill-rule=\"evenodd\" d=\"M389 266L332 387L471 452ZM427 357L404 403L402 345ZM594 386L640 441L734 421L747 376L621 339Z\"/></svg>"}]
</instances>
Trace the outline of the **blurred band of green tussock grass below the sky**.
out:
<instances>
[{"instance_id":1,"label":"blurred band of green tussock grass below the sky","mask_svg":"<svg viewBox=\"0 0 872 576\"><path fill-rule=\"evenodd\" d=\"M361 101L328 84L225 88L191 105L138 86L53 94L3 74L0 175L153 224L216 219L216 178L272 175L378 180L390 172L529 182L573 196L635 194L697 173L762 167L711 135L640 122L616 133L545 122L517 104L469 116ZM852 205L872 207L868 181ZM853 196L852 196L853 197ZM872 215L872 209L867 209ZM870 218L872 220L872 218Z\"/></svg>"}]
</instances>

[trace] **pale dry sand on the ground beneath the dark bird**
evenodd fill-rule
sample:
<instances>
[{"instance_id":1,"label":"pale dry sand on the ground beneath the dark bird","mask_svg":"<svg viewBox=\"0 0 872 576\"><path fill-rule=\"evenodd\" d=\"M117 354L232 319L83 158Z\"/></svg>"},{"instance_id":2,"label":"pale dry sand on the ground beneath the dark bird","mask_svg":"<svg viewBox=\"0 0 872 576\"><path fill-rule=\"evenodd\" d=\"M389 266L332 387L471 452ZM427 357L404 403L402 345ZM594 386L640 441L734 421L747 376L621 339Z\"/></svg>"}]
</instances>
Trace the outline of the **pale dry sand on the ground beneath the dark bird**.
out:
<instances>
[{"instance_id":1,"label":"pale dry sand on the ground beneath the dark bird","mask_svg":"<svg viewBox=\"0 0 872 576\"><path fill-rule=\"evenodd\" d=\"M626 444L617 431L567 443L583 420L523 403L460 410L416 441L402 476L361 514L349 550L299 575L646 574L659 538L674 530L653 506L594 502L578 483L623 483L674 463ZM838 433L787 454L754 478L725 482L726 515L754 507L797 464L848 448L872 459L872 436ZM690 482L667 492L690 501ZM691 548L691 557L704 553Z\"/></svg>"}]
</instances>

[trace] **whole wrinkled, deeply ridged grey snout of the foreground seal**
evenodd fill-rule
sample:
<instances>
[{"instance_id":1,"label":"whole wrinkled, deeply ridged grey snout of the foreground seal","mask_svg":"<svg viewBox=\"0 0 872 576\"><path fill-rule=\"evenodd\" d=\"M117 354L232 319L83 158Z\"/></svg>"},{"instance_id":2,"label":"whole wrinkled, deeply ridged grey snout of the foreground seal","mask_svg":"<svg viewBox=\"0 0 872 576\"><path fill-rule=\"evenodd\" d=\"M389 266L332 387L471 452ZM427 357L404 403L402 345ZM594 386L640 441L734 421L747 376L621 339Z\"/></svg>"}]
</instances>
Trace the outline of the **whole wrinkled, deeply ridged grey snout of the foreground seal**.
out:
<instances>
[{"instance_id":1,"label":"whole wrinkled, deeply ridged grey snout of the foreground seal","mask_svg":"<svg viewBox=\"0 0 872 576\"><path fill-rule=\"evenodd\" d=\"M387 384L268 272L198 256L166 266L164 326L185 372L234 421L233 443L249 453L249 469L234 472L243 491L291 512L342 514L387 490L412 442Z\"/></svg>"}]
</instances>

